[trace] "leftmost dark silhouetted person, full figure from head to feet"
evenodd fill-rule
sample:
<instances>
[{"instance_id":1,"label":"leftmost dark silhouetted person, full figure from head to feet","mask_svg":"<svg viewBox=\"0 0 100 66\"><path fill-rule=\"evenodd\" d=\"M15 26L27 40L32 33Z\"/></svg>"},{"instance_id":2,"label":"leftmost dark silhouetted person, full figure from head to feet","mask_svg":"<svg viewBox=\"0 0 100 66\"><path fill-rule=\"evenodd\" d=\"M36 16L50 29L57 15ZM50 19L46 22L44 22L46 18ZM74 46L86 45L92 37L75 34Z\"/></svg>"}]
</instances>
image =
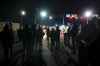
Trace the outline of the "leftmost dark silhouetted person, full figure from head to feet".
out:
<instances>
[{"instance_id":1,"label":"leftmost dark silhouetted person, full figure from head to feet","mask_svg":"<svg viewBox=\"0 0 100 66\"><path fill-rule=\"evenodd\" d=\"M12 30L12 24L5 24L1 34L2 34L1 41L4 48L5 60L8 60L9 52L10 52L10 56L12 56L12 48L13 48L13 43L14 43L14 34Z\"/></svg>"}]
</instances>

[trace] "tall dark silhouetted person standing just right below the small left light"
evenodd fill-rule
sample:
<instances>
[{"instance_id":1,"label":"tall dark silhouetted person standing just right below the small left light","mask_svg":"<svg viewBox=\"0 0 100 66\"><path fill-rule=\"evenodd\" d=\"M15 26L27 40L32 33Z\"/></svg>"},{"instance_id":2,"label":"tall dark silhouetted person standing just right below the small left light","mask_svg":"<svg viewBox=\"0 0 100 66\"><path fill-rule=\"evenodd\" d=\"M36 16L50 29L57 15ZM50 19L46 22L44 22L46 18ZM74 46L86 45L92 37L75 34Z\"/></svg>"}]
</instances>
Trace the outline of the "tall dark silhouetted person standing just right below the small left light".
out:
<instances>
[{"instance_id":1,"label":"tall dark silhouetted person standing just right below the small left light","mask_svg":"<svg viewBox=\"0 0 100 66\"><path fill-rule=\"evenodd\" d=\"M23 29L23 46L25 50L25 56L27 59L31 56L31 44L32 44L32 31L31 25L24 25Z\"/></svg>"}]
</instances>

